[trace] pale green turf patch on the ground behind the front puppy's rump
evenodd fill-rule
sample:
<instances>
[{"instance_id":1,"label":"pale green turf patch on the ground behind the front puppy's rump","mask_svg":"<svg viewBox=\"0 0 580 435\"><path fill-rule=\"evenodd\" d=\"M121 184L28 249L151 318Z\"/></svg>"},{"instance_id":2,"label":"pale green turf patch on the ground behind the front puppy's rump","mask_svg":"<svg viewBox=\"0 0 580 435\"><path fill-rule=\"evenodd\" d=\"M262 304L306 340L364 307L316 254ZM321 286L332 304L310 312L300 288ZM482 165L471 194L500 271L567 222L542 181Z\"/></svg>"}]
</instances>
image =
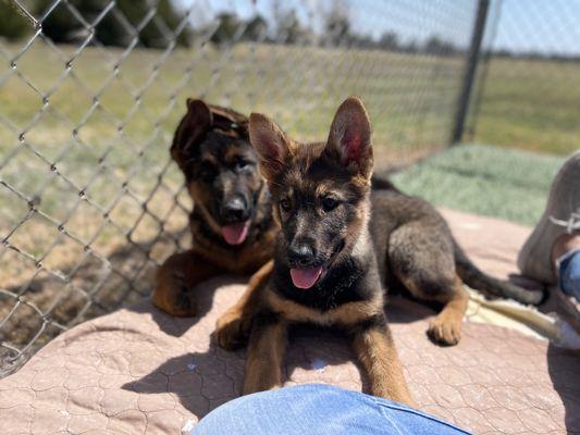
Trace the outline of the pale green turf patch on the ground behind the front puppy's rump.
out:
<instances>
[{"instance_id":1,"label":"pale green turf patch on the ground behind the front puppy's rump","mask_svg":"<svg viewBox=\"0 0 580 435\"><path fill-rule=\"evenodd\" d=\"M440 207L533 225L563 162L560 157L461 145L397 174L395 183Z\"/></svg>"}]
</instances>

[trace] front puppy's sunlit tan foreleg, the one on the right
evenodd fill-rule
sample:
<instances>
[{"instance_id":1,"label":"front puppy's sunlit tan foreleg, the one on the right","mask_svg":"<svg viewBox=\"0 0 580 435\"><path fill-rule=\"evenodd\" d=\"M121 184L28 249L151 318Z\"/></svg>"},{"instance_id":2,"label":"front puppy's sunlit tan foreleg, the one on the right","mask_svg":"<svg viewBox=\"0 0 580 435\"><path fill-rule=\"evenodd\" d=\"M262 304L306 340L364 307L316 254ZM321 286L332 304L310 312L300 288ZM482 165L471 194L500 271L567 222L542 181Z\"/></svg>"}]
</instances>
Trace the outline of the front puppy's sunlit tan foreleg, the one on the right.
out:
<instances>
[{"instance_id":1,"label":"front puppy's sunlit tan foreleg, the one on the right","mask_svg":"<svg viewBox=\"0 0 580 435\"><path fill-rule=\"evenodd\" d=\"M369 376L371 394L415 407L384 315L355 330L353 344Z\"/></svg>"}]
</instances>

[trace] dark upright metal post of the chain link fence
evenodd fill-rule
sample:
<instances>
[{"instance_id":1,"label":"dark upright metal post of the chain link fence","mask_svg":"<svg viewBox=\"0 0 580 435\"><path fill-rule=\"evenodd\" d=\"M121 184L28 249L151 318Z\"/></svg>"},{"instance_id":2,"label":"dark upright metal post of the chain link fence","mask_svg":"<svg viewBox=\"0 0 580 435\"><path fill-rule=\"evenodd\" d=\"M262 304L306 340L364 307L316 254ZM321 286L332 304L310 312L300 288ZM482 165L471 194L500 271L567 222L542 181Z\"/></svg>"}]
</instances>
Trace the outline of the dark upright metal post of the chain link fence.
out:
<instances>
[{"instance_id":1,"label":"dark upright metal post of the chain link fence","mask_svg":"<svg viewBox=\"0 0 580 435\"><path fill-rule=\"evenodd\" d=\"M473 25L473 34L471 35L471 45L467 57L466 70L464 74L464 84L461 94L457 101L457 113L455 116L455 124L453 128L452 145L461 140L464 135L464 126L469 110L469 100L471 96L471 88L476 79L476 72L480 59L481 41L483 33L485 32L485 23L488 21L488 11L490 9L490 0L479 0L476 23Z\"/></svg>"}]
</instances>

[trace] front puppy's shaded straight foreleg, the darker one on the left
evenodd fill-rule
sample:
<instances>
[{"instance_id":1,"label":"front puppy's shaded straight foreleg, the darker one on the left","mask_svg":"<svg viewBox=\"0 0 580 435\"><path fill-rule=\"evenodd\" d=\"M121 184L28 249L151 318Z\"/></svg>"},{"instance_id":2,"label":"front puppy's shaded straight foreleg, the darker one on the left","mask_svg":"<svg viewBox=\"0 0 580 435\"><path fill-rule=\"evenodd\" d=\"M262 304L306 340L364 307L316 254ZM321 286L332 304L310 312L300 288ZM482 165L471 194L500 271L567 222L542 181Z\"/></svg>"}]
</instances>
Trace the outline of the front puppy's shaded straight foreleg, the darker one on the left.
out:
<instances>
[{"instance_id":1,"label":"front puppy's shaded straight foreleg, the darker one on the left","mask_svg":"<svg viewBox=\"0 0 580 435\"><path fill-rule=\"evenodd\" d=\"M282 385L282 362L286 350L287 324L274 313L254 319L246 359L244 394Z\"/></svg>"}]
</instances>

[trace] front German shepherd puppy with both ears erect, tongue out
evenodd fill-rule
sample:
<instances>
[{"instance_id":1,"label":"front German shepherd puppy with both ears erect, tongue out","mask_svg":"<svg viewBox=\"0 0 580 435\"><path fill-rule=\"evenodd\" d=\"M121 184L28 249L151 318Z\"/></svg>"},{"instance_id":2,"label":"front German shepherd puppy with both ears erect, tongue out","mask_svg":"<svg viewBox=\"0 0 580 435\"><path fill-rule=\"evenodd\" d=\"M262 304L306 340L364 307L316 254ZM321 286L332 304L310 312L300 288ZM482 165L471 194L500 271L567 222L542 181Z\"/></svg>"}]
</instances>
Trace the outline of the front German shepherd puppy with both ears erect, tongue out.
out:
<instances>
[{"instance_id":1,"label":"front German shepherd puppy with both ears erect, tongue out","mask_svg":"<svg viewBox=\"0 0 580 435\"><path fill-rule=\"evenodd\" d=\"M341 104L326 142L299 145L256 113L249 135L282 231L273 262L218 321L225 348L250 331L244 394L281 385L287 328L306 322L343 326L371 393L411 403L384 314L385 284L444 304L429 327L444 345L459 340L468 300L461 278L490 294L540 301L541 293L473 266L429 203L385 181L371 191L371 129L359 99Z\"/></svg>"}]
</instances>

